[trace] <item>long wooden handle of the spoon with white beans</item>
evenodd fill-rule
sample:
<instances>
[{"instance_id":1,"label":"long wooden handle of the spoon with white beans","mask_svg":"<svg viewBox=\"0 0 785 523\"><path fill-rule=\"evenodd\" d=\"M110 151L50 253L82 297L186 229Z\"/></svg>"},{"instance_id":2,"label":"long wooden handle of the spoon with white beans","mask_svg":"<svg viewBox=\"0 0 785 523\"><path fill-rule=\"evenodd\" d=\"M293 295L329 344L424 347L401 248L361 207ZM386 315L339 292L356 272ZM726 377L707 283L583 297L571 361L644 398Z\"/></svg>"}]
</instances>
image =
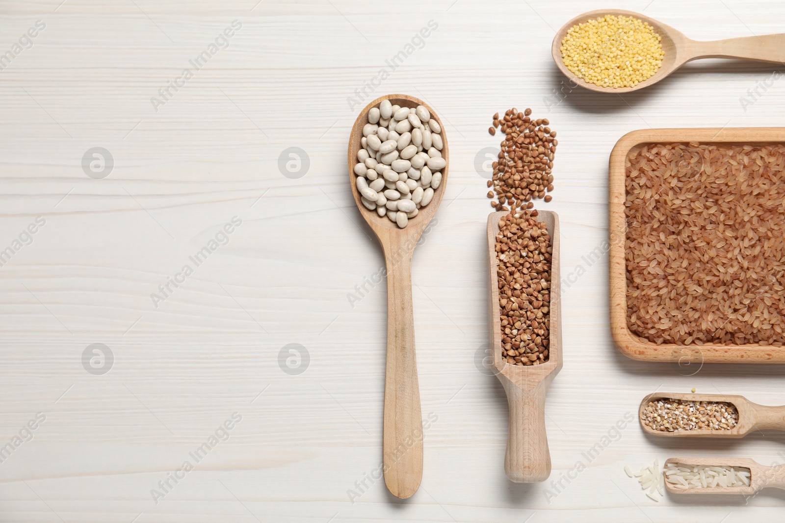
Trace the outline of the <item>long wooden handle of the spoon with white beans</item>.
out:
<instances>
[{"instance_id":1,"label":"long wooden handle of the spoon with white beans","mask_svg":"<svg viewBox=\"0 0 785 523\"><path fill-rule=\"evenodd\" d=\"M411 250L385 250L387 263L387 369L384 474L393 496L407 498L422 481L422 415L414 355Z\"/></svg>"}]
</instances>

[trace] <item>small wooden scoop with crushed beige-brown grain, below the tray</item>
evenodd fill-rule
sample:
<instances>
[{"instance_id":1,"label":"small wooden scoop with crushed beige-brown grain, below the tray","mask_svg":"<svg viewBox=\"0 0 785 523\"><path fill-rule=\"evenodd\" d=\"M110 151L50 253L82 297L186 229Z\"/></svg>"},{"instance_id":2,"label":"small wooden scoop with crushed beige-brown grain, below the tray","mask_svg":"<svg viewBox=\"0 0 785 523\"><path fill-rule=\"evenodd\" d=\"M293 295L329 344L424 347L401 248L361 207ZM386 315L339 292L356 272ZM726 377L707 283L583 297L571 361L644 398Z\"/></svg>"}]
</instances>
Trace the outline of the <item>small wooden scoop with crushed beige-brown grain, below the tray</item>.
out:
<instances>
[{"instance_id":1,"label":"small wooden scoop with crushed beige-brown grain, below the tray","mask_svg":"<svg viewBox=\"0 0 785 523\"><path fill-rule=\"evenodd\" d=\"M701 429L676 430L674 432L654 430L643 422L644 409L649 401L665 398L684 401L725 401L732 403L739 411L739 423L736 423L736 427L730 430ZM731 394L670 394L658 392L643 398L641 407L638 409L638 420L641 422L644 432L652 434L652 436L666 436L670 438L743 438L753 430L785 430L785 405L780 407L758 405L743 396Z\"/></svg>"}]
</instances>

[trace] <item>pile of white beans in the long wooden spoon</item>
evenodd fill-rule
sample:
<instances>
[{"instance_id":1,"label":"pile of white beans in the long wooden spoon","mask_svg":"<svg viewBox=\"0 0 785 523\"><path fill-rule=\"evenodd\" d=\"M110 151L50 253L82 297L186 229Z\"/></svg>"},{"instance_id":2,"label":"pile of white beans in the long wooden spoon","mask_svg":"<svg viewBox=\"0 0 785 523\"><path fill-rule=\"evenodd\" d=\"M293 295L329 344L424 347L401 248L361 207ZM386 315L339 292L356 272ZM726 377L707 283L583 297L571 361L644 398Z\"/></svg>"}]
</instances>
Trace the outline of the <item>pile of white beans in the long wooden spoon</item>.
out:
<instances>
[{"instance_id":1,"label":"pile of white beans in the long wooden spoon","mask_svg":"<svg viewBox=\"0 0 785 523\"><path fill-rule=\"evenodd\" d=\"M422 105L415 109L383 100L371 107L354 166L363 205L406 227L439 188L447 165L442 147L441 127Z\"/></svg>"}]
</instances>

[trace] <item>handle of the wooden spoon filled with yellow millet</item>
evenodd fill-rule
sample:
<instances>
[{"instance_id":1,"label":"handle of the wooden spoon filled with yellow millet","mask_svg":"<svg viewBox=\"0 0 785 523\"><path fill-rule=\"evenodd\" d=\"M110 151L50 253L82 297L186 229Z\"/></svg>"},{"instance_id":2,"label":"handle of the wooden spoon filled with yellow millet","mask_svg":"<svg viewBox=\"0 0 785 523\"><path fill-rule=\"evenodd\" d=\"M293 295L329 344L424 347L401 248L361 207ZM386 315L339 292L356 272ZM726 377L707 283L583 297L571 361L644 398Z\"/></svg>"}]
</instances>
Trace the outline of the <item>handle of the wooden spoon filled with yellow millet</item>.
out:
<instances>
[{"instance_id":1,"label":"handle of the wooden spoon filled with yellow millet","mask_svg":"<svg viewBox=\"0 0 785 523\"><path fill-rule=\"evenodd\" d=\"M785 62L785 33L728 38L714 42L691 41L688 60L698 58L741 58L758 62Z\"/></svg>"}]
</instances>

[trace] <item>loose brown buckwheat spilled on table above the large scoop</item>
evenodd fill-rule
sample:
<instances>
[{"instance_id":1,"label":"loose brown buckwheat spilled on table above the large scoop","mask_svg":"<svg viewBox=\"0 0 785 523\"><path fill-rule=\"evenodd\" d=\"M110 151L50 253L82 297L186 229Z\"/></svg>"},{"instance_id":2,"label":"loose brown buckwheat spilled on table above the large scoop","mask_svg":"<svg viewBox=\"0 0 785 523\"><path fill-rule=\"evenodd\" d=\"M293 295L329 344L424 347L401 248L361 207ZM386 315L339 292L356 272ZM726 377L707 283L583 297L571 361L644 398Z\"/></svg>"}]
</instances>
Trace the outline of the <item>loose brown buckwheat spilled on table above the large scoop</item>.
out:
<instances>
[{"instance_id":1,"label":"loose brown buckwheat spilled on table above the large scoop","mask_svg":"<svg viewBox=\"0 0 785 523\"><path fill-rule=\"evenodd\" d=\"M497 211L515 212L516 209L531 209L532 198L546 198L550 202L553 191L553 155L556 154L556 131L551 131L547 118L531 119L531 109L523 113L513 107L505 112L502 118L494 114L494 126L488 129L492 134L501 125L502 151L498 153L498 162L493 162L493 179L488 187L494 193L488 198L496 197L491 207ZM505 205L506 204L506 205Z\"/></svg>"}]
</instances>

